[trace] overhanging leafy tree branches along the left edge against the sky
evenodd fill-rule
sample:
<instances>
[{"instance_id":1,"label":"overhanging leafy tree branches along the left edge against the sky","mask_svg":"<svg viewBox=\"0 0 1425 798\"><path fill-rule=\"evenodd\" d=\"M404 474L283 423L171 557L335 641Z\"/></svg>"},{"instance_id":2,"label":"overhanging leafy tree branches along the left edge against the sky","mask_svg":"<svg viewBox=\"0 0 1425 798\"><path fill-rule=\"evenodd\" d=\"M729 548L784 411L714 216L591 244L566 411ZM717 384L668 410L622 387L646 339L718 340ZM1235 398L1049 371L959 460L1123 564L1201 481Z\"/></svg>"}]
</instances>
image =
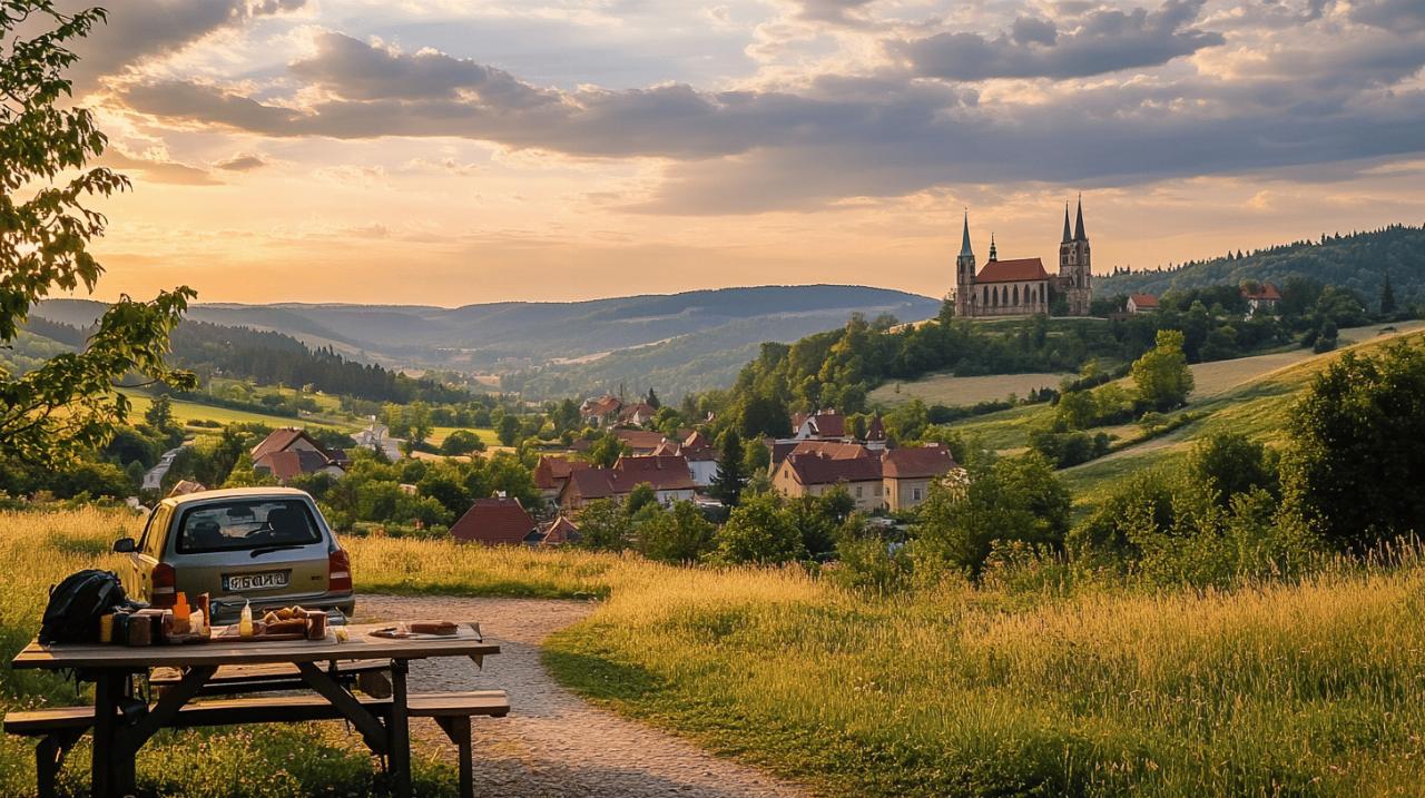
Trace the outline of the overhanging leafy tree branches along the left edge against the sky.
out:
<instances>
[{"instance_id":1,"label":"overhanging leafy tree branches along the left edge against the sky","mask_svg":"<svg viewBox=\"0 0 1425 798\"><path fill-rule=\"evenodd\" d=\"M73 41L104 17L103 9L63 14L51 0L0 3L0 38L9 43L0 54L0 345L19 336L30 308L51 291L93 292L104 272L88 244L108 219L84 201L130 184L107 168L84 170L108 138L88 110L61 105L71 93L63 73L78 58ZM20 38L21 23L46 30ZM128 418L130 400L114 390L127 373L195 388L192 373L164 362L194 296L187 286L151 302L124 296L81 352L56 355L19 378L0 369L0 457L58 465L101 446Z\"/></svg>"}]
</instances>

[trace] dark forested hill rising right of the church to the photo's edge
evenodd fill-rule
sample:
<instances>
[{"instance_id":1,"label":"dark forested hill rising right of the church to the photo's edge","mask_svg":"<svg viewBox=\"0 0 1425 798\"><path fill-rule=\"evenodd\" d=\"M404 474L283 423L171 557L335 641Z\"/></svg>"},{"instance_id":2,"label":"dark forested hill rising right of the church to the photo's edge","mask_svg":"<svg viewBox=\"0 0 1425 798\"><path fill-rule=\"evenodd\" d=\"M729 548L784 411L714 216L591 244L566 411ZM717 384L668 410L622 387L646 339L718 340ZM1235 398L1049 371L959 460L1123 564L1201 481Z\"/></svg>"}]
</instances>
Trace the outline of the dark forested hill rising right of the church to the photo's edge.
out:
<instances>
[{"instance_id":1,"label":"dark forested hill rising right of the church to the photo's edge","mask_svg":"<svg viewBox=\"0 0 1425 798\"><path fill-rule=\"evenodd\" d=\"M1240 258L1234 252L1173 268L1096 276L1093 289L1102 298L1130 292L1161 295L1171 288L1237 285L1244 279L1280 284L1288 276L1305 276L1349 288L1374 308L1387 274L1398 305L1425 302L1425 227L1392 225L1324 235L1317 241L1243 252Z\"/></svg>"}]
</instances>

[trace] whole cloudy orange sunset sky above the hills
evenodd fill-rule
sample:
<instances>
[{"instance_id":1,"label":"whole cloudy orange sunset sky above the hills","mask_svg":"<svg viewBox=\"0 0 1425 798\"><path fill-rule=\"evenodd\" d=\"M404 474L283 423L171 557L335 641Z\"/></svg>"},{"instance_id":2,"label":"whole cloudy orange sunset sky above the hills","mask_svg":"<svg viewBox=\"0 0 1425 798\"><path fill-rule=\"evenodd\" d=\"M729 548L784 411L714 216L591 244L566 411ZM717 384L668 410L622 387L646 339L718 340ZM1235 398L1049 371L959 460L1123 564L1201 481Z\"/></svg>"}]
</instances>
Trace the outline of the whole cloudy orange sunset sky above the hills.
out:
<instances>
[{"instance_id":1,"label":"whole cloudy orange sunset sky above the hills","mask_svg":"<svg viewBox=\"0 0 1425 798\"><path fill-rule=\"evenodd\" d=\"M123 0L95 296L942 296L1425 221L1419 0Z\"/></svg>"}]
</instances>

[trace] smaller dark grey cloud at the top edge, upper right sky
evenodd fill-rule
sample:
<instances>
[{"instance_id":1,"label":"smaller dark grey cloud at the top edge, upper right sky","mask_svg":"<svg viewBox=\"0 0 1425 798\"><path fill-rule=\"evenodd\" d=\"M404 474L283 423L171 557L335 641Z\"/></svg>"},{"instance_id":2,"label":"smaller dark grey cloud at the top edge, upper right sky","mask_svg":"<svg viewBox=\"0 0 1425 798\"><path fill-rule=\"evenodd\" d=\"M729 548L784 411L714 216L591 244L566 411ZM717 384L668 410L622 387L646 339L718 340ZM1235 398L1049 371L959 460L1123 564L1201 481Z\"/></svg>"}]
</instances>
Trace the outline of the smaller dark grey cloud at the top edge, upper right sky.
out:
<instances>
[{"instance_id":1,"label":"smaller dark grey cloud at the top edge, upper right sky","mask_svg":"<svg viewBox=\"0 0 1425 798\"><path fill-rule=\"evenodd\" d=\"M926 77L988 78L1089 77L1156 67L1204 47L1223 44L1220 33L1193 26L1204 0L1168 0L1156 11L1094 9L1060 33L1047 20L1019 17L1010 34L939 33L889 48Z\"/></svg>"}]
</instances>

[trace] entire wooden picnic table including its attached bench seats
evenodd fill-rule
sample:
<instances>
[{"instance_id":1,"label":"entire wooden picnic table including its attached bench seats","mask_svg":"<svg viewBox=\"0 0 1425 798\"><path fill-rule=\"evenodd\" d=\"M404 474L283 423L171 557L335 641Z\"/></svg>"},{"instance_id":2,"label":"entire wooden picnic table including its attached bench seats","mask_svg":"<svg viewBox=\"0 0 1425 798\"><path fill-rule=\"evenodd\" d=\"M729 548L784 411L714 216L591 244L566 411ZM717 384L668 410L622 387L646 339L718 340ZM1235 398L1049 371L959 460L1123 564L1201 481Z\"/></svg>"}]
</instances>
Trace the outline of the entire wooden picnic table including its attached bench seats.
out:
<instances>
[{"instance_id":1,"label":"entire wooden picnic table including its attached bench seats","mask_svg":"<svg viewBox=\"0 0 1425 798\"><path fill-rule=\"evenodd\" d=\"M499 654L499 646L484 643L477 627L462 628L452 637L390 640L372 637L376 624L349 626L349 640L294 640L269 643L209 641L195 646L123 647L104 644L31 643L13 660L16 668L71 668L81 678L94 681L93 707L58 707L9 712L4 731L40 737L36 747L36 770L40 795L54 794L54 781L68 750L93 730L93 794L108 798L125 795L134 788L134 757L161 728L198 725L235 725L254 722L296 722L314 720L345 720L362 735L368 748L386 761L396 795L410 795L410 717L433 718L455 742L460 755L460 795L473 797L473 762L470 751L470 718L476 715L503 717L509 712L504 691L484 690L466 693L408 694L406 673L410 660L430 657L470 657L477 663L487 654ZM321 667L326 663L326 670ZM335 663L335 664L333 664ZM390 671L390 695L370 697L353 694L346 673L372 673L379 663ZM265 668L264 668L265 667ZM157 701L148 704L134 697L134 675L152 668L167 687ZM228 685L255 688L255 673L275 675L275 684L291 680L292 674L315 695L269 695L211 701L192 701L205 690L221 693L224 684L214 683L219 671L228 668ZM248 668L244 671L244 668ZM251 668L258 668L256 671ZM192 703L191 703L192 701Z\"/></svg>"}]
</instances>

